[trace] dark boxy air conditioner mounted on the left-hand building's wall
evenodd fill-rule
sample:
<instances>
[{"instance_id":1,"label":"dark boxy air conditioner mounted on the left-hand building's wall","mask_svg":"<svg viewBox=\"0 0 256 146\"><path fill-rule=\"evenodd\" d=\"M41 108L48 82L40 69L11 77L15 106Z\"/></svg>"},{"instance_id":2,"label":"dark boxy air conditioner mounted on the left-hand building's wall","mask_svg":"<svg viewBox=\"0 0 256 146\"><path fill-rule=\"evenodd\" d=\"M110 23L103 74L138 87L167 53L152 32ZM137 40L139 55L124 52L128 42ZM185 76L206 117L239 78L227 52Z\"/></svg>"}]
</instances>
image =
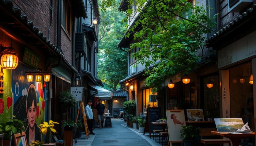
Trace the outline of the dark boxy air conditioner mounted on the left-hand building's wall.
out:
<instances>
[{"instance_id":1,"label":"dark boxy air conditioner mounted on the left-hand building's wall","mask_svg":"<svg viewBox=\"0 0 256 146\"><path fill-rule=\"evenodd\" d=\"M75 51L77 53L84 53L86 52L86 38L83 32L76 33L76 40L75 40Z\"/></svg>"}]
</instances>

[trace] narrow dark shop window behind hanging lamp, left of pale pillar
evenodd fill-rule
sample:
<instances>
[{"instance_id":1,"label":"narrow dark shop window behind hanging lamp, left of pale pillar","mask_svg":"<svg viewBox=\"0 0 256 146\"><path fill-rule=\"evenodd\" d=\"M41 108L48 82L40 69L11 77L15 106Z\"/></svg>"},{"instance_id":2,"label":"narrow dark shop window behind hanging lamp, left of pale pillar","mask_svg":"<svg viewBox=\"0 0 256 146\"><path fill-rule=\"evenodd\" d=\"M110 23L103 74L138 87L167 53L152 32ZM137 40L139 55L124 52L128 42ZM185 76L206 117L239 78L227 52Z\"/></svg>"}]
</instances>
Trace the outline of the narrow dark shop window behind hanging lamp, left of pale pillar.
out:
<instances>
[{"instance_id":1,"label":"narrow dark shop window behind hanging lamp, left of pale pillar","mask_svg":"<svg viewBox=\"0 0 256 146\"><path fill-rule=\"evenodd\" d=\"M213 86L207 87L207 84L211 80ZM210 113L213 118L219 118L219 76L211 76L203 79L204 83L204 115Z\"/></svg>"}]
</instances>

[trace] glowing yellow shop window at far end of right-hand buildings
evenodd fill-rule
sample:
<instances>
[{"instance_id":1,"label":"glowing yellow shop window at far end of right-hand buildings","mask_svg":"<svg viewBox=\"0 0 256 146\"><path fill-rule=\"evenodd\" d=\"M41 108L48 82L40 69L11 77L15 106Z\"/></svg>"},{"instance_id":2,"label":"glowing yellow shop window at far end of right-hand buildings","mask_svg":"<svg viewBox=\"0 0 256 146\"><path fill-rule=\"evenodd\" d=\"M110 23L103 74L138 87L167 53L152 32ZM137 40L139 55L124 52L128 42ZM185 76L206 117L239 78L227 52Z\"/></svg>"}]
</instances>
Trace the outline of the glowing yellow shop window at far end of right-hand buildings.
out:
<instances>
[{"instance_id":1,"label":"glowing yellow shop window at far end of right-hand buildings","mask_svg":"<svg viewBox=\"0 0 256 146\"><path fill-rule=\"evenodd\" d=\"M153 94L151 89L143 90L143 112L147 112L147 107L158 107L157 102L150 102L150 96L157 95L157 93Z\"/></svg>"}]
</instances>

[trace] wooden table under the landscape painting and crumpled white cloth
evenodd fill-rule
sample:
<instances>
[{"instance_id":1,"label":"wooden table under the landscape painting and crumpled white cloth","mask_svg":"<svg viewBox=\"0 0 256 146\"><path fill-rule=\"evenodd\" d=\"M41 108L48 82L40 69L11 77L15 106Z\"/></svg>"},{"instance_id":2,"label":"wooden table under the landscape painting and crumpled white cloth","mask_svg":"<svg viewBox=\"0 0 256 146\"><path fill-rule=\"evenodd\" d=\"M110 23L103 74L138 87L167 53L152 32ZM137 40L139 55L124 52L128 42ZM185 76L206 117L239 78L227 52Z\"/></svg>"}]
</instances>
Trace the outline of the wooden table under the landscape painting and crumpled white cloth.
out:
<instances>
[{"instance_id":1,"label":"wooden table under the landscape painting and crumpled white cloth","mask_svg":"<svg viewBox=\"0 0 256 146\"><path fill-rule=\"evenodd\" d=\"M255 132L252 133L241 133L241 134L229 134L227 132L211 131L212 134L220 135L222 137L229 138L233 146L239 146L242 139L248 137L254 137Z\"/></svg>"}]
</instances>

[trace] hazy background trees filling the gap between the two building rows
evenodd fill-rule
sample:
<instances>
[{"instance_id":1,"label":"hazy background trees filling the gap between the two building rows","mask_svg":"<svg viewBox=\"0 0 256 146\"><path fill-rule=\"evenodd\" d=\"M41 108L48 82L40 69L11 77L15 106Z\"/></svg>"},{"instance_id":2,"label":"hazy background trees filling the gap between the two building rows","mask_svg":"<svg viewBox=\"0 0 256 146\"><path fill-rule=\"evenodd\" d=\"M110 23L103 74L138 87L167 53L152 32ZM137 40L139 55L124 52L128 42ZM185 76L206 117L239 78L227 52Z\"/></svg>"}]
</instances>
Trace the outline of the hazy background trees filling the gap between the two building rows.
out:
<instances>
[{"instance_id":1,"label":"hazy background trees filling the gap between the two building rows","mask_svg":"<svg viewBox=\"0 0 256 146\"><path fill-rule=\"evenodd\" d=\"M99 1L99 4L100 1ZM120 80L127 77L127 53L117 47L127 27L122 22L125 15L117 11L119 5L101 11L101 27L99 28L98 76L108 84L108 88L116 91Z\"/></svg>"}]
</instances>

